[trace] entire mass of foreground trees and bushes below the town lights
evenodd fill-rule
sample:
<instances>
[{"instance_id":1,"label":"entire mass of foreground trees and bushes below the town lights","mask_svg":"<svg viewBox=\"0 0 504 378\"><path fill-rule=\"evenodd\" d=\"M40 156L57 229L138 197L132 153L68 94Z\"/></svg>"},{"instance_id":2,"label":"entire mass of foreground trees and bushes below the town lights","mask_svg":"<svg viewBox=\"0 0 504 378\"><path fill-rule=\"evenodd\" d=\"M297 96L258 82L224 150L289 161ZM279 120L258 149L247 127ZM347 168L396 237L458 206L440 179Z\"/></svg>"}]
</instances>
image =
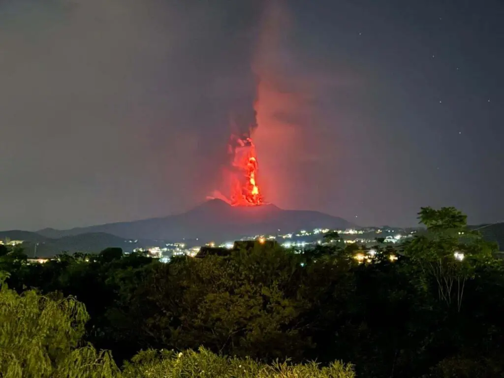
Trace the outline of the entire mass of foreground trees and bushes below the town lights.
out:
<instances>
[{"instance_id":1,"label":"entire mass of foreground trees and bushes below the town lights","mask_svg":"<svg viewBox=\"0 0 504 378\"><path fill-rule=\"evenodd\" d=\"M258 243L168 264L110 248L31 265L0 249L0 376L344 378L350 363L359 378L503 376L496 246L453 208L420 219L425 233L375 254ZM311 360L328 368L295 365Z\"/></svg>"}]
</instances>

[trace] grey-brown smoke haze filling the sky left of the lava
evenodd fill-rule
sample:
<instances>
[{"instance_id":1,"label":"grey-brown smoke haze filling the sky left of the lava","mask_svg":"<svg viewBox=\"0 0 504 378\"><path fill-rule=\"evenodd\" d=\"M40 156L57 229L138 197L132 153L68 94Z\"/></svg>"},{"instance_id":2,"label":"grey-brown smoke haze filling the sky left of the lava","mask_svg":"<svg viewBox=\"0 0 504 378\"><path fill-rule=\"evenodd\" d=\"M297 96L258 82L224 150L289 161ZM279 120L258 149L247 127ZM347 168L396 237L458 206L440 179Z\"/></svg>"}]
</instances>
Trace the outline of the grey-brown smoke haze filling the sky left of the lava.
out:
<instances>
[{"instance_id":1,"label":"grey-brown smoke haze filling the sky left of the lava","mask_svg":"<svg viewBox=\"0 0 504 378\"><path fill-rule=\"evenodd\" d=\"M204 200L227 159L231 111L240 128L254 121L259 15L211 3L0 3L0 228L162 216Z\"/></svg>"}]
</instances>

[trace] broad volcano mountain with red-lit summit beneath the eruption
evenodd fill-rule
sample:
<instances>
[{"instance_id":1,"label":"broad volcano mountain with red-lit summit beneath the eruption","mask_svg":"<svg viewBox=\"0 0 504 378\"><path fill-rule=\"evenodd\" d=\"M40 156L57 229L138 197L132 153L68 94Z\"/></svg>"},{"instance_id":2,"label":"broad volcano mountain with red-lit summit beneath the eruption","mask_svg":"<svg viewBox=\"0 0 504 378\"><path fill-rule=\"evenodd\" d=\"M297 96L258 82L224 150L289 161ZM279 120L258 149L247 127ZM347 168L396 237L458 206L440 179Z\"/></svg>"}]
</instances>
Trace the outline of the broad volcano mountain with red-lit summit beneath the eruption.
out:
<instances>
[{"instance_id":1,"label":"broad volcano mountain with red-lit summit beneath the eruption","mask_svg":"<svg viewBox=\"0 0 504 378\"><path fill-rule=\"evenodd\" d=\"M282 210L275 205L233 207L221 200L210 200L183 214L133 222L108 223L70 230L44 229L44 236L62 237L89 232L136 239L201 241L233 240L255 234L292 232L303 228L345 229L354 224L318 211Z\"/></svg>"}]
</instances>

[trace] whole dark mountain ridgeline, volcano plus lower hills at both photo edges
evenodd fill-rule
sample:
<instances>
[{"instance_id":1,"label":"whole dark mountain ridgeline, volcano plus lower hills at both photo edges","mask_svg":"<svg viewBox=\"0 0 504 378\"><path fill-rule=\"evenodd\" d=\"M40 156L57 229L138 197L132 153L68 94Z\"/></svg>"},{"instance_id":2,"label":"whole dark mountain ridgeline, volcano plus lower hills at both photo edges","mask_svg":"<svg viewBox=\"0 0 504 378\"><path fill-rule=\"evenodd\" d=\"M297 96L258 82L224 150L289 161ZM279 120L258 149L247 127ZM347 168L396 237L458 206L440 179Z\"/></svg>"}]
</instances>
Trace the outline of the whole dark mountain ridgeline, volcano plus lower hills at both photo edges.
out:
<instances>
[{"instance_id":1,"label":"whole dark mountain ridgeline, volcano plus lower hills at both photo edges","mask_svg":"<svg viewBox=\"0 0 504 378\"><path fill-rule=\"evenodd\" d=\"M221 200L210 200L178 215L132 222L108 223L89 227L37 232L0 231L0 240L23 240L28 256L47 257L69 253L98 253L107 247L132 251L185 239L189 244L232 241L242 236L289 233L301 229L357 227L345 219L317 211L282 210L275 205L232 207ZM504 248L504 223L473 226L488 241ZM198 239L198 240L196 240Z\"/></svg>"}]
</instances>

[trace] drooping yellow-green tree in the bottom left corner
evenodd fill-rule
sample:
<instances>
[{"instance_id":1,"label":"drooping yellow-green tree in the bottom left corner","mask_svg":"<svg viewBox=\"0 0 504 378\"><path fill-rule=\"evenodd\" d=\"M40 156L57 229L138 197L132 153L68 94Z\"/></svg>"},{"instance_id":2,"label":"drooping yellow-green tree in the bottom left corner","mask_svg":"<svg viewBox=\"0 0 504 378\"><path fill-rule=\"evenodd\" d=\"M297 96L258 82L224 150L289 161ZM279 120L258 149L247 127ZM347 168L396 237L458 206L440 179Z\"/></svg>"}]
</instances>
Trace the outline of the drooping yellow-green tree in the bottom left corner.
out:
<instances>
[{"instance_id":1,"label":"drooping yellow-green tree in the bottom left corner","mask_svg":"<svg viewBox=\"0 0 504 378\"><path fill-rule=\"evenodd\" d=\"M79 347L88 314L72 297L33 290L22 295L0 276L0 375L6 377L118 376L109 352Z\"/></svg>"}]
</instances>

